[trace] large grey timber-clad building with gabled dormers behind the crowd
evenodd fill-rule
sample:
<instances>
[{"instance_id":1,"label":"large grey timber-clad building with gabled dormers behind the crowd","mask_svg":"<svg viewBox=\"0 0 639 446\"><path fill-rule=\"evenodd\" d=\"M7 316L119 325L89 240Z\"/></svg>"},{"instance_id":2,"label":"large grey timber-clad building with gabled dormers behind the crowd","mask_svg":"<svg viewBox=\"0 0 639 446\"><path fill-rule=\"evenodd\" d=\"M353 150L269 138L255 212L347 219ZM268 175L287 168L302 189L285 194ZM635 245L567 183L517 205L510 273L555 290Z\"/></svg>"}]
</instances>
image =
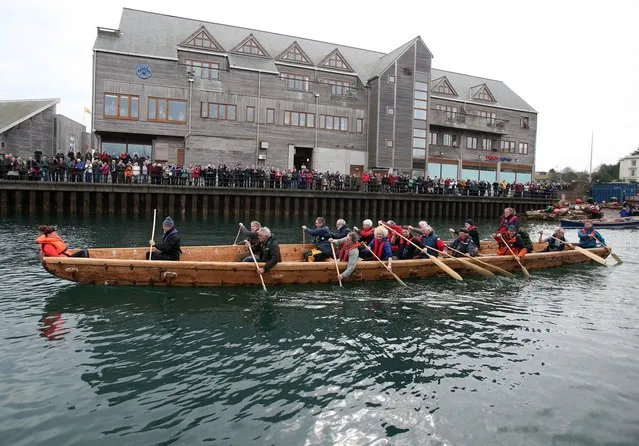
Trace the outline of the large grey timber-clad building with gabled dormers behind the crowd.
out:
<instances>
[{"instance_id":1,"label":"large grey timber-clad building with gabled dormers behind the crowd","mask_svg":"<svg viewBox=\"0 0 639 446\"><path fill-rule=\"evenodd\" d=\"M98 150L179 164L302 165L528 181L537 113L503 82L388 54L124 9L98 28Z\"/></svg>"}]
</instances>

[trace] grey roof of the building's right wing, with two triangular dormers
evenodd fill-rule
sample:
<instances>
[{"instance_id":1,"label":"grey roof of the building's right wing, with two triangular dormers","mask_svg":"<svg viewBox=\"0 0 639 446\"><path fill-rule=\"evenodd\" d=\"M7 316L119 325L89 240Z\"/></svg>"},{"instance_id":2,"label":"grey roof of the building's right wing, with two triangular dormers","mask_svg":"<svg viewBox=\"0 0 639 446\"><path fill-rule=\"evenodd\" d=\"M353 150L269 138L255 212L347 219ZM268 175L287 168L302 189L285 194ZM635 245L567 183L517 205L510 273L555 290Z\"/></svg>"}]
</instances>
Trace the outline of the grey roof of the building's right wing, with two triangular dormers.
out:
<instances>
[{"instance_id":1,"label":"grey roof of the building's right wing, with two triangular dormers","mask_svg":"<svg viewBox=\"0 0 639 446\"><path fill-rule=\"evenodd\" d=\"M519 97L517 93L512 91L502 81L470 76L468 74L455 73L453 71L438 70L435 68L431 70L431 76L433 79L439 79L445 76L458 94L458 96L450 96L445 94L433 93L433 96L435 97L445 99L454 98L460 101L471 102L477 105L492 105L495 107L513 108L517 110L537 113L534 108L532 108L526 101ZM473 99L473 93L477 91L476 87L481 86L482 84L486 84L496 102L484 102Z\"/></svg>"}]
</instances>

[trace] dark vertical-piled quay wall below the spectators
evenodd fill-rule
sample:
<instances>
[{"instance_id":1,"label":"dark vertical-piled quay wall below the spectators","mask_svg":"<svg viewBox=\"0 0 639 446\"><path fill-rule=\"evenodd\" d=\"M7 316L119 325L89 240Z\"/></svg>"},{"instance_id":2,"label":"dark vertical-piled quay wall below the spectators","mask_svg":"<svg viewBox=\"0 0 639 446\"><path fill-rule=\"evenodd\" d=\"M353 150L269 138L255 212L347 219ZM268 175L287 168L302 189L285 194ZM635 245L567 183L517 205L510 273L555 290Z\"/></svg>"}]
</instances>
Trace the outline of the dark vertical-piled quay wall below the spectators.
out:
<instances>
[{"instance_id":1,"label":"dark vertical-piled quay wall below the spectators","mask_svg":"<svg viewBox=\"0 0 639 446\"><path fill-rule=\"evenodd\" d=\"M193 186L0 181L0 217L94 216L238 219L494 218L511 206L518 213L551 204L551 198L237 189ZM351 223L355 224L355 223Z\"/></svg>"}]
</instances>

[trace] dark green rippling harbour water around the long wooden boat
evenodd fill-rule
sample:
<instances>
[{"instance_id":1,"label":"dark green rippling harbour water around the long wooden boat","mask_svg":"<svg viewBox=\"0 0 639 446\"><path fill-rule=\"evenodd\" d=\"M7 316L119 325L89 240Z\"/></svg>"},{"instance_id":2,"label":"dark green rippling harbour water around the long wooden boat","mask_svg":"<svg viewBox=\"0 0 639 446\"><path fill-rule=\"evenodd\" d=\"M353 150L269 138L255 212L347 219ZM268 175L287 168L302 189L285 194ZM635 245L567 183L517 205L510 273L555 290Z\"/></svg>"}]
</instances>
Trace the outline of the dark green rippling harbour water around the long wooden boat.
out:
<instances>
[{"instance_id":1,"label":"dark green rippling harbour water around the long wooden boat","mask_svg":"<svg viewBox=\"0 0 639 446\"><path fill-rule=\"evenodd\" d=\"M602 231L617 266L264 293L65 282L39 264L43 223L0 220L0 444L639 443L637 230ZM151 235L55 223L73 247ZM265 223L291 243L312 221ZM237 231L178 226L192 245Z\"/></svg>"}]
</instances>

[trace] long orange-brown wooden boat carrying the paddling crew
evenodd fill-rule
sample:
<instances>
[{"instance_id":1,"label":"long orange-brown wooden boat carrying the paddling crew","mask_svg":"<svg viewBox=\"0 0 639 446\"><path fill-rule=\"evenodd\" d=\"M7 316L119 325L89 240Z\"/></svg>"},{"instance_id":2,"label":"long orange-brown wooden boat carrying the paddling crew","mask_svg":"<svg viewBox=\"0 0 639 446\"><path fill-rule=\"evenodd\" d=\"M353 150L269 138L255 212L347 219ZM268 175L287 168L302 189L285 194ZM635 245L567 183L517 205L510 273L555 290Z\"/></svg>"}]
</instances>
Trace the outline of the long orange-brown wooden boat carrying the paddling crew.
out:
<instances>
[{"instance_id":1,"label":"long orange-brown wooden boat carrying the paddling crew","mask_svg":"<svg viewBox=\"0 0 639 446\"><path fill-rule=\"evenodd\" d=\"M494 241L482 241L481 246L481 261L513 273L520 271L520 266L512 256L494 255L497 249ZM541 251L543 248L543 244L535 244L535 251ZM307 249L310 249L310 245L280 245L282 262L263 275L266 285L337 283L334 261L330 259L307 263L303 260L303 252ZM180 261L171 262L145 260L148 248L94 248L89 250L90 258L43 257L42 265L56 277L92 285L261 285L254 263L234 261L238 255L246 255L245 248L241 245L188 246L183 247L182 251ZM604 258L608 256L608 251L603 248L593 248L590 251ZM462 276L477 274L464 262L441 256L440 259ZM561 252L527 254L521 262L528 270L537 270L591 263L592 260L567 248ZM344 271L346 263L340 262L339 269ZM446 276L446 273L429 259L394 260L392 270L402 279ZM369 280L394 280L394 277L378 261L358 262L357 269L349 281Z\"/></svg>"}]
</instances>

